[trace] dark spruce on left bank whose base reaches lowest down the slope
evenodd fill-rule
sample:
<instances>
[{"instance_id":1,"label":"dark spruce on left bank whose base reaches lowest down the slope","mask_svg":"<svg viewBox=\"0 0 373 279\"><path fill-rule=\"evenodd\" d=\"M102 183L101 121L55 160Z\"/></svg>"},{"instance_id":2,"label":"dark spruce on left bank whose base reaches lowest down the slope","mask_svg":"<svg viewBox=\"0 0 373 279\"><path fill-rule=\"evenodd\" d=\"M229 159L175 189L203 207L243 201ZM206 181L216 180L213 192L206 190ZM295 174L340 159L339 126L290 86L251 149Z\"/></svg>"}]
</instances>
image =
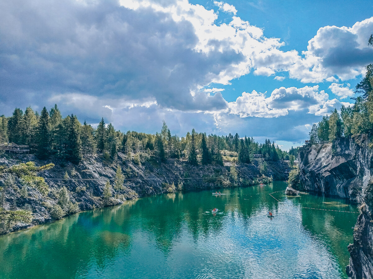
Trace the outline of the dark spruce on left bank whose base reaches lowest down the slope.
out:
<instances>
[{"instance_id":1,"label":"dark spruce on left bank whose base reaches lowest down the slope","mask_svg":"<svg viewBox=\"0 0 373 279\"><path fill-rule=\"evenodd\" d=\"M73 164L78 164L82 160L82 143L79 135L80 126L76 116L71 115L66 146L66 159Z\"/></svg>"}]
</instances>

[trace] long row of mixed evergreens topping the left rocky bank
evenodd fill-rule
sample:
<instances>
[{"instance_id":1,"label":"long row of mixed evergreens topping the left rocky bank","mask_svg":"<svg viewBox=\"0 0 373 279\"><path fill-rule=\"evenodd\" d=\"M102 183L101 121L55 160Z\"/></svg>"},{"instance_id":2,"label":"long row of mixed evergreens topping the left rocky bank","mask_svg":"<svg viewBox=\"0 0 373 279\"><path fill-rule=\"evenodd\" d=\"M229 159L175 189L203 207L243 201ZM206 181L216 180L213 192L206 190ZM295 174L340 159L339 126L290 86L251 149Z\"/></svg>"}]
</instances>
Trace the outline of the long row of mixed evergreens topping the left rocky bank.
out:
<instances>
[{"instance_id":1,"label":"long row of mixed evergreens topping the left rocky bank","mask_svg":"<svg viewBox=\"0 0 373 279\"><path fill-rule=\"evenodd\" d=\"M250 163L254 154L273 161L289 159L289 153L269 139L259 144L253 137L242 138L238 133L206 135L194 129L185 137L179 137L171 134L164 121L162 130L155 135L122 133L116 131L112 123L107 125L103 118L97 128L85 121L81 124L73 114L63 118L57 105L49 111L44 107L40 114L27 107L25 112L16 108L12 116L0 116L0 143L7 142L29 145L40 159L53 156L74 164L84 156L98 153L115 158L118 152L140 153L145 159L153 157L160 162L185 157L193 165L223 164L225 152L238 157L241 163Z\"/></svg>"}]
</instances>

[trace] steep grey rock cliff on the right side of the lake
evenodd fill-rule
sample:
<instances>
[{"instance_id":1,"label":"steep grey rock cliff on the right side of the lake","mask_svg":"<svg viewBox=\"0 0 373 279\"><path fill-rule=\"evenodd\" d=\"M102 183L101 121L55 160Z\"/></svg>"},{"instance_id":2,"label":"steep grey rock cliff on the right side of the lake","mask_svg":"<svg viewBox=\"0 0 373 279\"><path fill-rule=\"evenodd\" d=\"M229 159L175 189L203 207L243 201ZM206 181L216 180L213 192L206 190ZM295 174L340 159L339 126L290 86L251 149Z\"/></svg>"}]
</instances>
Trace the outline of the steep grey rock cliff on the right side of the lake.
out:
<instances>
[{"instance_id":1,"label":"steep grey rock cliff on the right side of the lake","mask_svg":"<svg viewBox=\"0 0 373 279\"><path fill-rule=\"evenodd\" d=\"M373 278L372 174L373 149L368 135L341 138L326 144L300 148L301 185L298 190L321 192L348 198L361 204L349 245L350 265L346 272L353 279Z\"/></svg>"}]
</instances>

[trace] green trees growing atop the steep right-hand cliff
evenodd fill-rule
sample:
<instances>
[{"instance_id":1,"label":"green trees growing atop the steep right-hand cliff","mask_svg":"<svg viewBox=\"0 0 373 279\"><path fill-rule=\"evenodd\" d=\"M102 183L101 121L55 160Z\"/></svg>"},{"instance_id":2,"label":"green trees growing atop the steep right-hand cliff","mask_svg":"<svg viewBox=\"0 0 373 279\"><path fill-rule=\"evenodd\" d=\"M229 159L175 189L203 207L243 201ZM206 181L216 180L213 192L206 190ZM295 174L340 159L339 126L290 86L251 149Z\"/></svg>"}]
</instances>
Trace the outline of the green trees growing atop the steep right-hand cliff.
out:
<instances>
[{"instance_id":1,"label":"green trees growing atop the steep right-hand cliff","mask_svg":"<svg viewBox=\"0 0 373 279\"><path fill-rule=\"evenodd\" d=\"M370 35L368 46L373 47L373 35ZM323 116L319 123L313 124L310 143L373 132L373 64L367 65L366 70L365 77L355 88L355 94L359 94L353 98L355 104L342 106L341 113L334 109L330 116Z\"/></svg>"}]
</instances>

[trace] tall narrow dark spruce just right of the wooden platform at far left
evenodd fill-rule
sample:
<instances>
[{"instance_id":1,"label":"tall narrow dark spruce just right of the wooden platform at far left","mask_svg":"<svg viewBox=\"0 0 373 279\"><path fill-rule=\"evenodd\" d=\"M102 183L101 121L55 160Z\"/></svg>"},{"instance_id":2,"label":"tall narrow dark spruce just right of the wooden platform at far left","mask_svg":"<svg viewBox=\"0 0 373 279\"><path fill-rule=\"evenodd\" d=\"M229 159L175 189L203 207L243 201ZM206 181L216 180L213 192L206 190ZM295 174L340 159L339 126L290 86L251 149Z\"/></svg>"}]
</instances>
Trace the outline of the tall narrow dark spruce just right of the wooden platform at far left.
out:
<instances>
[{"instance_id":1,"label":"tall narrow dark spruce just right of the wooden platform at far left","mask_svg":"<svg viewBox=\"0 0 373 279\"><path fill-rule=\"evenodd\" d=\"M50 152L50 123L46 107L43 108L40 114L36 143L38 157L41 159L48 157Z\"/></svg>"}]
</instances>

